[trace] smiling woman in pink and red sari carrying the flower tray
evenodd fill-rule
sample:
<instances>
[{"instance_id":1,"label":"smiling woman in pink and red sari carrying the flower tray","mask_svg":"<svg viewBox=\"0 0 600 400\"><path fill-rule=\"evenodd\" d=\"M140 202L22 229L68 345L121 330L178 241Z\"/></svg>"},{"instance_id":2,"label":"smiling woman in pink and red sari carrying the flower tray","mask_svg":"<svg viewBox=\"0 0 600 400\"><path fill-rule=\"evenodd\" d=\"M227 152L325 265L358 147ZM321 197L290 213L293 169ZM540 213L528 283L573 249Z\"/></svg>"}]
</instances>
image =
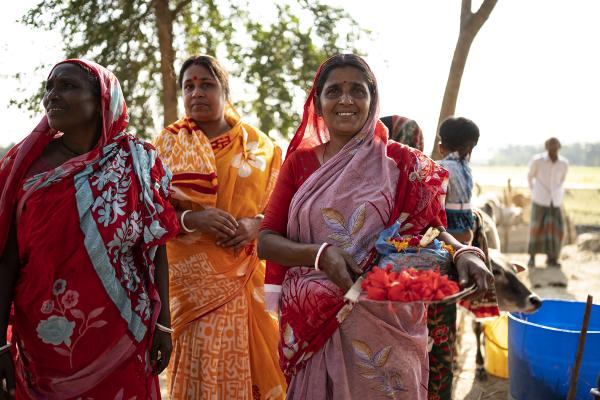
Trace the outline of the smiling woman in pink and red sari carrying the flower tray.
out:
<instances>
[{"instance_id":1,"label":"smiling woman in pink and red sari carrying the flower tray","mask_svg":"<svg viewBox=\"0 0 600 400\"><path fill-rule=\"evenodd\" d=\"M280 304L280 364L290 399L427 398L426 309L344 300L377 235L396 221L417 234L445 221L445 170L392 141L378 120L373 73L337 55L317 72L269 201L259 255L265 291ZM442 228L443 229L443 228ZM446 233L441 239L457 247ZM487 289L473 253L457 259L461 285Z\"/></svg>"}]
</instances>

